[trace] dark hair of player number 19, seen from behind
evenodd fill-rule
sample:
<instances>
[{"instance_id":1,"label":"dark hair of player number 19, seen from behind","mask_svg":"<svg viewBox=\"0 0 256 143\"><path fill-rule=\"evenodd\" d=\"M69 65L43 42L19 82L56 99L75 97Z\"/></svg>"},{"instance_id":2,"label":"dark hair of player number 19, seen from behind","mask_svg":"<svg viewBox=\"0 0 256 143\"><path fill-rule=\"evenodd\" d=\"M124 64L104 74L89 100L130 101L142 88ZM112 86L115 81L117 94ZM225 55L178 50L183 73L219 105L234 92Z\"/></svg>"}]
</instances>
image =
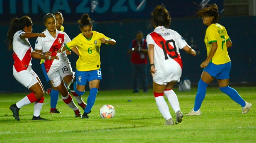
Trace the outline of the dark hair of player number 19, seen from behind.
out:
<instances>
[{"instance_id":1,"label":"dark hair of player number 19, seen from behind","mask_svg":"<svg viewBox=\"0 0 256 143\"><path fill-rule=\"evenodd\" d=\"M150 26L164 26L169 28L171 24L171 17L165 5L157 5L154 11L151 13L152 19Z\"/></svg>"}]
</instances>

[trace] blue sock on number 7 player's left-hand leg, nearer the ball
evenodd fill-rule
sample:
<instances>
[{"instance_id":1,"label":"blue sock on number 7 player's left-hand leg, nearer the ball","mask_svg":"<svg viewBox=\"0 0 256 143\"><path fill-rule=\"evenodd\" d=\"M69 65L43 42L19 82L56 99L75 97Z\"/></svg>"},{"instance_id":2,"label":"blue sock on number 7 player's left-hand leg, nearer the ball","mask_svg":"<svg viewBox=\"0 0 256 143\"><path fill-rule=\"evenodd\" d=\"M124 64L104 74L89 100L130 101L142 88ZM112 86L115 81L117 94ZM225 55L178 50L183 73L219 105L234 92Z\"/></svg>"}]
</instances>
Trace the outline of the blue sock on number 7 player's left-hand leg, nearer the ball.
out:
<instances>
[{"instance_id":1,"label":"blue sock on number 7 player's left-hand leg, nearer the ball","mask_svg":"<svg viewBox=\"0 0 256 143\"><path fill-rule=\"evenodd\" d=\"M200 109L203 99L206 94L207 86L208 86L208 84L203 82L202 79L199 80L197 94L196 94L196 98L195 98L194 111L197 111Z\"/></svg>"}]
</instances>

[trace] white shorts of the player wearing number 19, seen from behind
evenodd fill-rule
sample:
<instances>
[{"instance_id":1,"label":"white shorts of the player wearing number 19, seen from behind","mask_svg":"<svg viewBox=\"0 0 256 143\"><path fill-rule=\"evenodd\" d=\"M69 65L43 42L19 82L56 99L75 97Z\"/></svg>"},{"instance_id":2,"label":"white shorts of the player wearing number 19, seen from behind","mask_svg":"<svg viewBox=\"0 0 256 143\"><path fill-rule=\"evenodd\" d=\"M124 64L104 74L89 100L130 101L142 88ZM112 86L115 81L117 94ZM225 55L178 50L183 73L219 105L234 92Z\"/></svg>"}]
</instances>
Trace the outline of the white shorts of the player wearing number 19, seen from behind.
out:
<instances>
[{"instance_id":1,"label":"white shorts of the player wearing number 19, seen from behind","mask_svg":"<svg viewBox=\"0 0 256 143\"><path fill-rule=\"evenodd\" d=\"M167 85L171 81L180 81L182 69L177 63L156 65L157 70L153 75L153 81L160 85Z\"/></svg>"}]
</instances>

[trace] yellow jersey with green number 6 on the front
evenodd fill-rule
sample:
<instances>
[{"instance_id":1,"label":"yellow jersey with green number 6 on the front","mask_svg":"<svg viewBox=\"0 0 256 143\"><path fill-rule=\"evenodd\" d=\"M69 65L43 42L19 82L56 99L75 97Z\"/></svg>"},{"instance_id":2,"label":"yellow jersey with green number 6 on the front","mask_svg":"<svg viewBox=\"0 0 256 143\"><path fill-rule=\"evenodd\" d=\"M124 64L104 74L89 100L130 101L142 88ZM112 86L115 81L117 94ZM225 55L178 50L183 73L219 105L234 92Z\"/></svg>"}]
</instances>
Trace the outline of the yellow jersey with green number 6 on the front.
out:
<instances>
[{"instance_id":1,"label":"yellow jersey with green number 6 on the front","mask_svg":"<svg viewBox=\"0 0 256 143\"><path fill-rule=\"evenodd\" d=\"M74 46L78 48L80 56L76 61L76 69L79 71L100 69L100 38L110 38L97 31L92 31L92 33L93 36L90 39L85 38L83 33L80 33L65 45L69 49Z\"/></svg>"}]
</instances>

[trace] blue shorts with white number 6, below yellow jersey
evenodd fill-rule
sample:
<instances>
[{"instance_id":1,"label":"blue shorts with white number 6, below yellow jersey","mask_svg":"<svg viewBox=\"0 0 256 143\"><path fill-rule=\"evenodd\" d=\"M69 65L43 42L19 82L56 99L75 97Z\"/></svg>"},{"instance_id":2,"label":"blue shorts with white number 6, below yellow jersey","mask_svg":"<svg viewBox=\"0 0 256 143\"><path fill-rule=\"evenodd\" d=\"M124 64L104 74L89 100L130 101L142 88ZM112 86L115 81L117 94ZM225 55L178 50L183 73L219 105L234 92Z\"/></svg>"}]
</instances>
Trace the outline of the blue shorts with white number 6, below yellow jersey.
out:
<instances>
[{"instance_id":1,"label":"blue shorts with white number 6, below yellow jersey","mask_svg":"<svg viewBox=\"0 0 256 143\"><path fill-rule=\"evenodd\" d=\"M101 68L98 70L90 70L90 71L79 71L75 69L75 78L76 78L76 84L78 85L85 85L86 81L92 81L95 79L101 80Z\"/></svg>"}]
</instances>

